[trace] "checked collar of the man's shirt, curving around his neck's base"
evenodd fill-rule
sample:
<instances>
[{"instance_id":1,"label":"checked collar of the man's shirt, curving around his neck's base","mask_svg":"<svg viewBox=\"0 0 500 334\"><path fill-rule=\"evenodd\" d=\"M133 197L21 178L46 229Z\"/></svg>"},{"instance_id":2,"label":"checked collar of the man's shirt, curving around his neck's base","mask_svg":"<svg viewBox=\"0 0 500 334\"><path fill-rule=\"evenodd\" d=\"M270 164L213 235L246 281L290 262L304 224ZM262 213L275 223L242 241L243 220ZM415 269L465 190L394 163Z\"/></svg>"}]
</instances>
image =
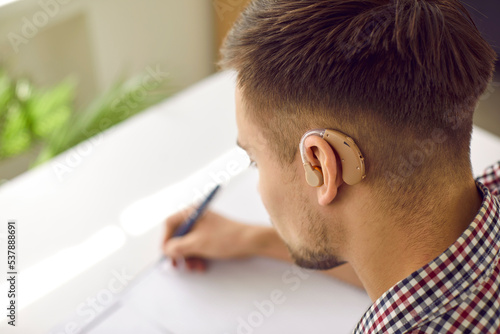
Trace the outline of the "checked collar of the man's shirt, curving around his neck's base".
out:
<instances>
[{"instance_id":1,"label":"checked collar of the man's shirt, curving around his neck's base","mask_svg":"<svg viewBox=\"0 0 500 334\"><path fill-rule=\"evenodd\" d=\"M499 199L476 181L481 208L462 235L437 258L386 291L355 333L402 332L452 307L481 285L499 259Z\"/></svg>"}]
</instances>

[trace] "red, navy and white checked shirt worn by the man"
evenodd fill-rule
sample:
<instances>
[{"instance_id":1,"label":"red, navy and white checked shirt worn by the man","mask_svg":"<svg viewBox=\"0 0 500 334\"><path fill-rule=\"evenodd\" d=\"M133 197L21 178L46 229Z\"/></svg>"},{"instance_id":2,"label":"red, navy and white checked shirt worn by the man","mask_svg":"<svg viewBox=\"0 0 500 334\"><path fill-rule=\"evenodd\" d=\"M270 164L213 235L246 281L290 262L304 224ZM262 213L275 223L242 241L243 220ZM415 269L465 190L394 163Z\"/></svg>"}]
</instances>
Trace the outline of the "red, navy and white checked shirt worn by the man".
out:
<instances>
[{"instance_id":1,"label":"red, navy and white checked shirt worn by the man","mask_svg":"<svg viewBox=\"0 0 500 334\"><path fill-rule=\"evenodd\" d=\"M361 333L500 333L500 161L476 179L483 203L436 259L386 291Z\"/></svg>"}]
</instances>

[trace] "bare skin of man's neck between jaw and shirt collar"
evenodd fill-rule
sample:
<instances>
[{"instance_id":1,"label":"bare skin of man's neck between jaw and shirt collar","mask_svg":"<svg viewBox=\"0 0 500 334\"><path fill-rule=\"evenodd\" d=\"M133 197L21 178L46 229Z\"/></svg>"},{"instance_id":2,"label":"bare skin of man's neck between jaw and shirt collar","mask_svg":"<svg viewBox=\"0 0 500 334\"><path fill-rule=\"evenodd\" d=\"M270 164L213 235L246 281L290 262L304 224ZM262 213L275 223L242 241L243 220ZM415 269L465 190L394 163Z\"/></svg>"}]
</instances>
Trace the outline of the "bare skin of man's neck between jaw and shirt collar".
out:
<instances>
[{"instance_id":1,"label":"bare skin of man's neck between jaw and shirt collar","mask_svg":"<svg viewBox=\"0 0 500 334\"><path fill-rule=\"evenodd\" d=\"M407 216L364 212L357 217L348 257L373 301L450 247L474 220L482 197L471 179L444 192L437 189L430 202L437 205L420 217L415 215L420 204Z\"/></svg>"}]
</instances>

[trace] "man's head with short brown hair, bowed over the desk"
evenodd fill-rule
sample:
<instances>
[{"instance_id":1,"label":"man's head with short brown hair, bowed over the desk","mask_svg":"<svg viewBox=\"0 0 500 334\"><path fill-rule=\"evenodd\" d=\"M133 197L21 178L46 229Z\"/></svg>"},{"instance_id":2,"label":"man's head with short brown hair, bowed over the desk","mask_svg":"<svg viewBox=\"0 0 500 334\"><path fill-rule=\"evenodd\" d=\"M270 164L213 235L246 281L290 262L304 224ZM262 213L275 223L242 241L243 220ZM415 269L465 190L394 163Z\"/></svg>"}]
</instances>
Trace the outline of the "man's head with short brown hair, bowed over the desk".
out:
<instances>
[{"instance_id":1,"label":"man's head with short brown hair, bowed over the desk","mask_svg":"<svg viewBox=\"0 0 500 334\"><path fill-rule=\"evenodd\" d=\"M237 71L239 140L262 200L305 266L344 260L351 209L404 216L471 175L472 114L495 53L457 0L256 0L222 55ZM325 183L308 186L298 144L314 128L352 137L366 179L346 185L338 154L313 136L306 152Z\"/></svg>"}]
</instances>

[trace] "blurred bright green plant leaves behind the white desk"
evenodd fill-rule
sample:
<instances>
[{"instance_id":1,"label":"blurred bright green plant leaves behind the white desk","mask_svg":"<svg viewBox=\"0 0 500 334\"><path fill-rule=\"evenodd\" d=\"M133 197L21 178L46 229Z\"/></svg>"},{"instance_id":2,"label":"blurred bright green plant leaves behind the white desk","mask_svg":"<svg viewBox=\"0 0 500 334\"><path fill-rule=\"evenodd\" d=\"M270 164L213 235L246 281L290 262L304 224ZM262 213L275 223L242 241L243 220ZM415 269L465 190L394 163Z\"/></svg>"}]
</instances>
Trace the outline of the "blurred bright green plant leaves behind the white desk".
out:
<instances>
[{"instance_id":1,"label":"blurred bright green plant leaves behind the white desk","mask_svg":"<svg viewBox=\"0 0 500 334\"><path fill-rule=\"evenodd\" d=\"M120 80L83 110L75 110L76 84L65 80L47 90L0 70L0 160L38 143L40 164L168 97L166 81L141 74Z\"/></svg>"}]
</instances>

